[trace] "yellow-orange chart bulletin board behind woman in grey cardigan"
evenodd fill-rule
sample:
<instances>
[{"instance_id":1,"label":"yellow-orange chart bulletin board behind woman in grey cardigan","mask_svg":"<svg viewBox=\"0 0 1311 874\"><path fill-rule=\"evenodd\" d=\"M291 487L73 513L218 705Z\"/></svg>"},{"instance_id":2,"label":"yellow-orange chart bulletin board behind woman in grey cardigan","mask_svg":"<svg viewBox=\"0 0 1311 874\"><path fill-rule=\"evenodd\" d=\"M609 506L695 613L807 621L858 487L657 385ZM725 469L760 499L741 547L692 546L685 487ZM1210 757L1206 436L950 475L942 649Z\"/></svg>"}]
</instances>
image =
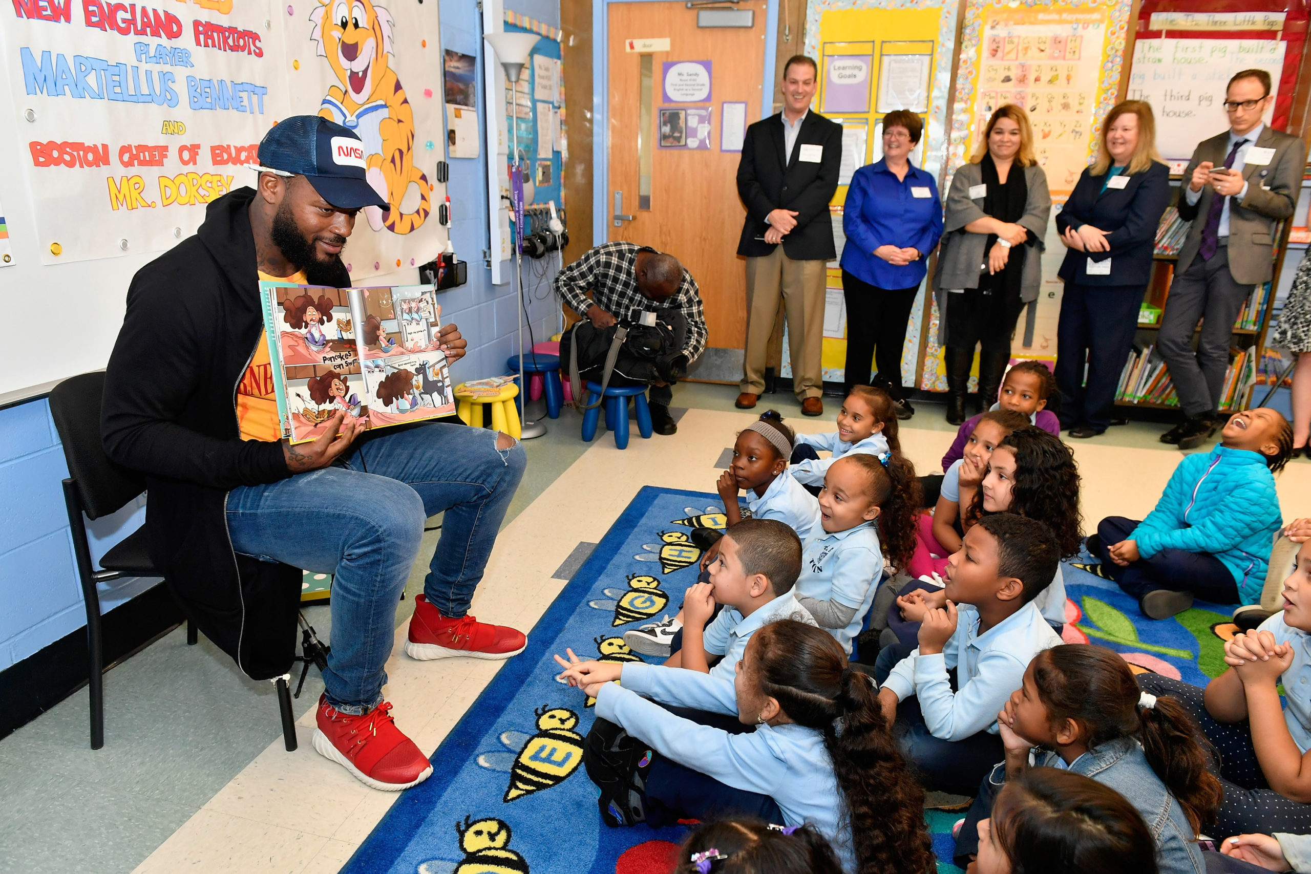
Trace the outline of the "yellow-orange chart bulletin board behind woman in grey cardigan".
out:
<instances>
[{"instance_id":1,"label":"yellow-orange chart bulletin board behind woman in grey cardigan","mask_svg":"<svg viewBox=\"0 0 1311 874\"><path fill-rule=\"evenodd\" d=\"M991 113L1023 102L1051 199L1063 203L1097 147L1101 119L1116 104L1131 5L1131 0L968 0L943 190L974 152ZM1047 237L1045 262L1063 254L1057 252L1059 244L1050 245L1053 235ZM1036 341L1025 345L1028 316L1021 317L1013 356L1055 358L1061 282L1047 263L1044 276L1049 280L1032 313ZM929 300L928 309L919 387L941 392L947 375L937 345L937 304Z\"/></svg>"}]
</instances>

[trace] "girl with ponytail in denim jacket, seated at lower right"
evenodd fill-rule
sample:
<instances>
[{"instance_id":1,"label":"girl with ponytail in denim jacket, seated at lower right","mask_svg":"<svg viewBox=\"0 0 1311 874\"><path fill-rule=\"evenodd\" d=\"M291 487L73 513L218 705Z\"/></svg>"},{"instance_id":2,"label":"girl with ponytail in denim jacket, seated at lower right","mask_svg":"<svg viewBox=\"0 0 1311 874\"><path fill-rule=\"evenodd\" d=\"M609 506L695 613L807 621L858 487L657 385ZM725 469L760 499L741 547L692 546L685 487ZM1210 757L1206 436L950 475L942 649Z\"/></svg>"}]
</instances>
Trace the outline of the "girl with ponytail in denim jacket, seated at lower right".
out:
<instances>
[{"instance_id":1,"label":"girl with ponytail in denim jacket, seated at lower right","mask_svg":"<svg viewBox=\"0 0 1311 874\"><path fill-rule=\"evenodd\" d=\"M1162 874L1206 870L1197 835L1214 833L1222 795L1210 755L1179 698L1142 693L1118 653L1087 643L1038 653L998 726L1006 761L983 778L957 832L957 865L978 852L978 822L998 790L1029 768L1032 752L1033 764L1092 777L1137 807L1154 824Z\"/></svg>"}]
</instances>

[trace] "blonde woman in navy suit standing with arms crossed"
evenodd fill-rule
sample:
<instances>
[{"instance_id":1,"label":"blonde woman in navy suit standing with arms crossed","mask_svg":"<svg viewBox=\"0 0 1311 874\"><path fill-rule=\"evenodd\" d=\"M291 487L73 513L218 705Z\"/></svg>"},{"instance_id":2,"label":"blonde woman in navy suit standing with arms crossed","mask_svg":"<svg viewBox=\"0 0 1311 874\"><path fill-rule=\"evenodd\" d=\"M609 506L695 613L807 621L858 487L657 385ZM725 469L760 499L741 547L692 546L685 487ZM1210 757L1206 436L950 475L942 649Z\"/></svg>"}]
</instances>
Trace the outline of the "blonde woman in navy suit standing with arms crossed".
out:
<instances>
[{"instance_id":1,"label":"blonde woman in navy suit standing with arms crossed","mask_svg":"<svg viewBox=\"0 0 1311 874\"><path fill-rule=\"evenodd\" d=\"M1068 252L1058 274L1066 288L1055 376L1061 425L1072 438L1096 436L1110 425L1116 384L1151 279L1156 227L1168 206L1169 168L1156 152L1151 106L1126 100L1106 115L1097 160L1057 215Z\"/></svg>"}]
</instances>

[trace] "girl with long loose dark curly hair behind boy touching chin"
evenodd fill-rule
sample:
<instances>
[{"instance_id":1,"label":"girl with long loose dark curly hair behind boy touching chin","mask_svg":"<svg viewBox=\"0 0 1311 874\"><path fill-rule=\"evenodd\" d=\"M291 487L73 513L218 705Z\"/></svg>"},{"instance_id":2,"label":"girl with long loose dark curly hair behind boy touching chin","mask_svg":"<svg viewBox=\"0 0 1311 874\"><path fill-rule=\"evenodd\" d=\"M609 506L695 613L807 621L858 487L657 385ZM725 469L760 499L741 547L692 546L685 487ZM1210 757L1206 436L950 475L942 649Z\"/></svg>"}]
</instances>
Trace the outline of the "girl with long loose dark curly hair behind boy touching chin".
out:
<instances>
[{"instance_id":1,"label":"girl with long loose dark curly hair behind boy touching chin","mask_svg":"<svg viewBox=\"0 0 1311 874\"><path fill-rule=\"evenodd\" d=\"M1074 451L1061 438L1044 428L1025 425L1006 435L988 456L988 469L974 491L969 507L962 507L965 532L979 519L996 512L1037 519L1055 535L1061 558L1072 558L1083 544L1083 518L1079 514L1079 468ZM901 622L889 628L897 639L914 646L924 613L941 609L947 595L941 588L915 588L897 599ZM1055 577L1034 599L1042 618L1059 634L1065 629L1065 577L1057 565Z\"/></svg>"}]
</instances>

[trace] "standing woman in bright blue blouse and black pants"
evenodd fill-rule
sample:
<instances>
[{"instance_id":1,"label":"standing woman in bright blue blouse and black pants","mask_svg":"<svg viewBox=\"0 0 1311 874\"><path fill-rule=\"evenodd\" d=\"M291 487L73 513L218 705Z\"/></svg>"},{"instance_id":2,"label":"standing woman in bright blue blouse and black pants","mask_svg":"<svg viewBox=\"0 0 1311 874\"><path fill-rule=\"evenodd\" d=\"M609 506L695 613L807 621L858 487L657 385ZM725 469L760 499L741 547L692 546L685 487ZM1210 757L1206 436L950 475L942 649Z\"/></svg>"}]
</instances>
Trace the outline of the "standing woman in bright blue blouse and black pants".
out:
<instances>
[{"instance_id":1,"label":"standing woman in bright blue blouse and black pants","mask_svg":"<svg viewBox=\"0 0 1311 874\"><path fill-rule=\"evenodd\" d=\"M906 320L924 280L924 261L943 236L943 202L933 177L910 162L924 123L898 109L884 115L884 157L851 177L843 207L842 294L847 299L846 389L871 383L897 405L897 418L915 410L901 383Z\"/></svg>"}]
</instances>

